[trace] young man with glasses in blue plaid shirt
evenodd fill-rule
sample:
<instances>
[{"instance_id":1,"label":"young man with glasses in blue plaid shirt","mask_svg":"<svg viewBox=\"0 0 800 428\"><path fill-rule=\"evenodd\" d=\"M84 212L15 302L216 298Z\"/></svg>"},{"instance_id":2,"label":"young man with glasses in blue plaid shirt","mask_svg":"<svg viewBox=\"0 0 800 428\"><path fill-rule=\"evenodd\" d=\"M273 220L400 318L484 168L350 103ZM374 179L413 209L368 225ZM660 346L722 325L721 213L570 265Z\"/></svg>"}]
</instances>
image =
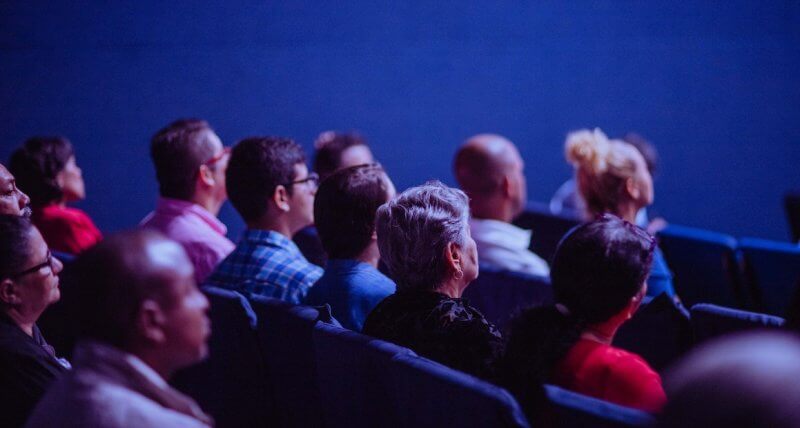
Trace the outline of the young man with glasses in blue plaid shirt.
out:
<instances>
[{"instance_id":1,"label":"young man with glasses in blue plaid shirt","mask_svg":"<svg viewBox=\"0 0 800 428\"><path fill-rule=\"evenodd\" d=\"M303 149L279 137L252 137L231 152L228 196L247 229L206 281L245 295L299 304L322 276L291 237L314 222L318 177Z\"/></svg>"}]
</instances>

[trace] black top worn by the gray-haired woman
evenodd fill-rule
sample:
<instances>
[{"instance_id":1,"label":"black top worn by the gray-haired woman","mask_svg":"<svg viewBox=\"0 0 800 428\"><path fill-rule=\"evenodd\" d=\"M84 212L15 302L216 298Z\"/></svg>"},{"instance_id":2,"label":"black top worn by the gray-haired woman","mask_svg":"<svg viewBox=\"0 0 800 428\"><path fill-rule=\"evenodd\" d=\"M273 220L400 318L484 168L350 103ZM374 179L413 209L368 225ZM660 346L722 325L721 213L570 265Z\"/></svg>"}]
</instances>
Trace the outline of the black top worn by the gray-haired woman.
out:
<instances>
[{"instance_id":1,"label":"black top worn by the gray-haired woman","mask_svg":"<svg viewBox=\"0 0 800 428\"><path fill-rule=\"evenodd\" d=\"M367 316L364 334L489 380L503 348L497 328L466 300L431 291L387 297Z\"/></svg>"}]
</instances>

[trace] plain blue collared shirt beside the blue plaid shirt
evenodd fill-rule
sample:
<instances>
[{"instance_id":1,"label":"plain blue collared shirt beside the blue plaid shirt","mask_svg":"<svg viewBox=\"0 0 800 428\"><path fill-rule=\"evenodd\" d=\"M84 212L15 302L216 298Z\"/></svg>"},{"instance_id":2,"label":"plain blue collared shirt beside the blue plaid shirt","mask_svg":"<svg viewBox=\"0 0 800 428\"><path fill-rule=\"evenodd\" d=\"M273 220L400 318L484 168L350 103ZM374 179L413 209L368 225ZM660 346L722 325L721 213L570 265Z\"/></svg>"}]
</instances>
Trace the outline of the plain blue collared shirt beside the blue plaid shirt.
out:
<instances>
[{"instance_id":1,"label":"plain blue collared shirt beside the blue plaid shirt","mask_svg":"<svg viewBox=\"0 0 800 428\"><path fill-rule=\"evenodd\" d=\"M331 305L343 327L361 331L364 320L381 300L394 294L395 284L378 269L357 260L328 260L325 273L308 293L305 304Z\"/></svg>"}]
</instances>

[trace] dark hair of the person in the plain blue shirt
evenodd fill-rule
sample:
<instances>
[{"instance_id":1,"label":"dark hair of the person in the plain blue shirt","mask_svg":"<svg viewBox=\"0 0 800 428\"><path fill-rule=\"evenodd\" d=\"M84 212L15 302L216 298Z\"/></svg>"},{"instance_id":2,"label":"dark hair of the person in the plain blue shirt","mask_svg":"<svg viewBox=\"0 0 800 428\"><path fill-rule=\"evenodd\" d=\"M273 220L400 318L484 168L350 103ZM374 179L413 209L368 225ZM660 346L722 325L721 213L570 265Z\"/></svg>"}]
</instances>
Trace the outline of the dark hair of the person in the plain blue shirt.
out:
<instances>
[{"instance_id":1,"label":"dark hair of the person in the plain blue shirt","mask_svg":"<svg viewBox=\"0 0 800 428\"><path fill-rule=\"evenodd\" d=\"M357 165L322 182L314 200L314 219L322 247L331 259L352 259L369 245L378 207L389 198L389 183L379 164Z\"/></svg>"}]
</instances>

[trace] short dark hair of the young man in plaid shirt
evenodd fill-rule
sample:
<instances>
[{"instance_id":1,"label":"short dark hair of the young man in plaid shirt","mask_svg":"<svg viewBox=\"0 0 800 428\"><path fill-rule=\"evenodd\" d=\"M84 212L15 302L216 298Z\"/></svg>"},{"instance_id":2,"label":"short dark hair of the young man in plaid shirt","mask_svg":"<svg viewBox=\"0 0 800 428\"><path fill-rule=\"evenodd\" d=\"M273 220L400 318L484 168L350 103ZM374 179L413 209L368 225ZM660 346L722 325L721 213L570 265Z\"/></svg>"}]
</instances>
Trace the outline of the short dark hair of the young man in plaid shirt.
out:
<instances>
[{"instance_id":1,"label":"short dark hair of the young man in plaid shirt","mask_svg":"<svg viewBox=\"0 0 800 428\"><path fill-rule=\"evenodd\" d=\"M291 195L294 166L304 163L303 148L289 138L250 137L231 151L225 175L228 200L244 221L255 221L266 212L278 185Z\"/></svg>"}]
</instances>

